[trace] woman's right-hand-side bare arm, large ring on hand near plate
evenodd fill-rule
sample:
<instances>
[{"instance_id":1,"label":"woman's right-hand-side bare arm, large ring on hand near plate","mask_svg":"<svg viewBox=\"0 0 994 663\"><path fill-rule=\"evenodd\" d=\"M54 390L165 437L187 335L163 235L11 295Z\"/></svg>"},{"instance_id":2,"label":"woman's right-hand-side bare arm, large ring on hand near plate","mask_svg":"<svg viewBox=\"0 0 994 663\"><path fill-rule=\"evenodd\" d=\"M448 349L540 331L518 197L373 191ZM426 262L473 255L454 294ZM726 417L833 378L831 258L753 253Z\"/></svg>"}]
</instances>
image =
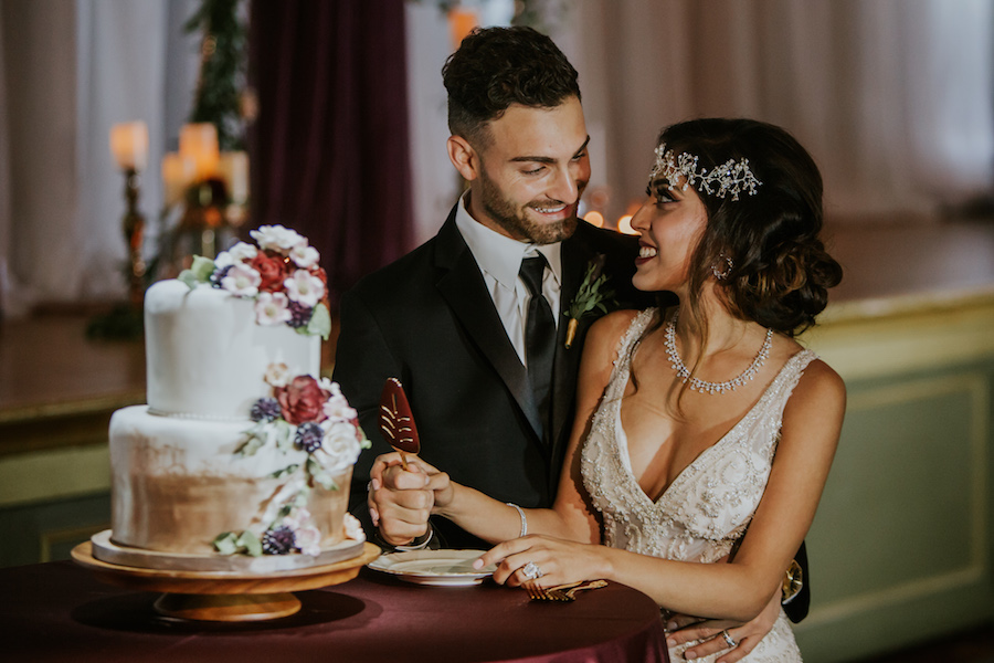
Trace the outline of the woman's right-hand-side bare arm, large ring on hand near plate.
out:
<instances>
[{"instance_id":1,"label":"woman's right-hand-side bare arm, large ring on hand near plate","mask_svg":"<svg viewBox=\"0 0 994 663\"><path fill-rule=\"evenodd\" d=\"M499 562L494 575L498 582L533 561L546 573L547 585L607 578L636 587L676 612L748 621L766 606L807 534L835 454L844 411L842 379L825 364L812 362L784 409L770 481L729 564L672 561L530 537L501 544L482 561Z\"/></svg>"}]
</instances>

